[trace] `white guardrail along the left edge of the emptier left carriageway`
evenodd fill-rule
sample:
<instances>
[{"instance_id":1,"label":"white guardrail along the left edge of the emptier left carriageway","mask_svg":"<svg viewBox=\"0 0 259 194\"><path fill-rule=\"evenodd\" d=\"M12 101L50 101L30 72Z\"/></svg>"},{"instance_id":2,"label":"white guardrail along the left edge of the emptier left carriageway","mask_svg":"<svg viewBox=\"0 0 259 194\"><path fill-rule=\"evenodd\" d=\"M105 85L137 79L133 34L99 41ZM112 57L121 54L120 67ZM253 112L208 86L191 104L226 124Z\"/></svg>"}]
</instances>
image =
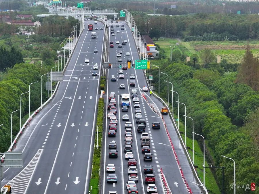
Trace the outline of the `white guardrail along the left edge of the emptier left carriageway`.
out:
<instances>
[{"instance_id":1,"label":"white guardrail along the left edge of the emptier left carriageway","mask_svg":"<svg viewBox=\"0 0 259 194\"><path fill-rule=\"evenodd\" d=\"M83 18L83 17L82 17L82 18ZM84 19L83 19L83 20L84 20ZM79 21L79 22L80 22L80 21ZM66 70L67 64L68 64L69 61L70 61L70 58L71 58L71 56L72 56L72 54L73 54L73 52L74 52L74 50L75 50L75 47L76 47L76 45L77 45L77 41L79 40L79 37L81 36L82 32L83 32L83 30L81 30L80 33L79 33L79 36L78 36L77 38L75 38L75 39L76 39L76 43L75 43L75 45L74 45L74 47L73 47L73 50L72 50L71 54L69 55L69 57L68 57L68 59L67 59L67 61L66 61L66 64L65 64L64 69L63 69L62 72L64 72L64 71ZM71 33L72 33L72 32L71 32ZM54 92L52 93L52 96L50 96L49 99L47 99L47 101L45 101L37 110L35 110L35 111L31 114L31 116L26 120L26 122L24 123L24 125L22 126L22 128L20 129L20 131L18 132L18 134L16 135L14 141L12 142L11 146L9 147L9 149L8 149L7 151L12 151L13 147L15 147L15 144L17 143L17 141L19 140L20 136L22 135L22 132L26 129L26 127L28 126L28 124L30 123L30 121L32 120L32 118L33 118L34 116L36 116L37 113L38 113L40 110L42 110L42 109L54 98L54 96L56 95L56 91L58 90L59 84L60 84L60 82L57 83L57 86L56 86ZM5 157L5 155L3 154L0 159L3 160L4 157ZM3 188L3 187L2 187L2 188L1 188L1 191L3 192L4 190L6 190L6 188ZM6 192L7 192L7 191L5 191L5 193L6 193ZM5 194L5 193L4 193L4 194Z\"/></svg>"}]
</instances>

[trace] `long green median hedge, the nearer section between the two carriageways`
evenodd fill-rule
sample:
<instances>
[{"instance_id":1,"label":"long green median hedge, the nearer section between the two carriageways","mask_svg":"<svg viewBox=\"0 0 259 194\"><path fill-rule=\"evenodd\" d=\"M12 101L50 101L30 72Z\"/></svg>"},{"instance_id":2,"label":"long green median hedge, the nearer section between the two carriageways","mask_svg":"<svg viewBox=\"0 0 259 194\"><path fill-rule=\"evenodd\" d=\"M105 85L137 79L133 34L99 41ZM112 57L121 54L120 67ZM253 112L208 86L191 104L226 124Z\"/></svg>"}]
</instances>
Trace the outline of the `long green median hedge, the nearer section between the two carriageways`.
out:
<instances>
[{"instance_id":1,"label":"long green median hedge, the nearer section between the two carriageways","mask_svg":"<svg viewBox=\"0 0 259 194\"><path fill-rule=\"evenodd\" d=\"M93 154L93 164L92 164L92 176L89 183L92 186L92 194L98 194L99 192L99 174L100 174L100 162L101 162L101 149L102 149L102 125L103 125L103 114L104 114L104 98L100 98L98 102L98 112L96 118L96 126L98 126L98 145L96 148L97 136L94 143L94 154ZM97 131L96 131L97 132Z\"/></svg>"}]
</instances>

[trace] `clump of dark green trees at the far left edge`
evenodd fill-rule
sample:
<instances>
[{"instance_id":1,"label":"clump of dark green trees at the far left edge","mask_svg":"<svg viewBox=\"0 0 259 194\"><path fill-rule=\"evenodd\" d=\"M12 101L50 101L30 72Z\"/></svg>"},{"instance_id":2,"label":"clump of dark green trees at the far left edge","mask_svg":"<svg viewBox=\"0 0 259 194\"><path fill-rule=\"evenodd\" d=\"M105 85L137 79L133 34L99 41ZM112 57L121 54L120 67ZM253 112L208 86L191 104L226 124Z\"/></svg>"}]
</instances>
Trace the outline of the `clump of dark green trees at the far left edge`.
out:
<instances>
[{"instance_id":1,"label":"clump of dark green trees at the far left edge","mask_svg":"<svg viewBox=\"0 0 259 194\"><path fill-rule=\"evenodd\" d=\"M10 50L0 47L0 72L4 71L7 68L12 68L16 63L22 63L23 57L19 49L16 49L14 46Z\"/></svg>"}]
</instances>

